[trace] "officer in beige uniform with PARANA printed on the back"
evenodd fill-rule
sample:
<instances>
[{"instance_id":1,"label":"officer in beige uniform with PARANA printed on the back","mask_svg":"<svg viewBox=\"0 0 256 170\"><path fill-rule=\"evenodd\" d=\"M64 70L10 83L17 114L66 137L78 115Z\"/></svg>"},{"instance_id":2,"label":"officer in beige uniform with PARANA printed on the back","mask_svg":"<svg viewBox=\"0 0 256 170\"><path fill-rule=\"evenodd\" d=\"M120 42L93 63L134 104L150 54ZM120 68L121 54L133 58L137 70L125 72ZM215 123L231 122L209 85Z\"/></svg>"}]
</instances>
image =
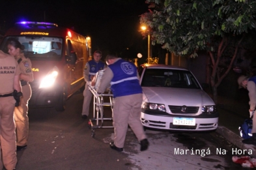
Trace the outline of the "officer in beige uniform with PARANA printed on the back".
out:
<instances>
[{"instance_id":1,"label":"officer in beige uniform with PARANA printed on the back","mask_svg":"<svg viewBox=\"0 0 256 170\"><path fill-rule=\"evenodd\" d=\"M14 90L16 98L22 94L20 73L14 57L0 51L0 169L15 169L17 164L13 95Z\"/></svg>"}]
</instances>

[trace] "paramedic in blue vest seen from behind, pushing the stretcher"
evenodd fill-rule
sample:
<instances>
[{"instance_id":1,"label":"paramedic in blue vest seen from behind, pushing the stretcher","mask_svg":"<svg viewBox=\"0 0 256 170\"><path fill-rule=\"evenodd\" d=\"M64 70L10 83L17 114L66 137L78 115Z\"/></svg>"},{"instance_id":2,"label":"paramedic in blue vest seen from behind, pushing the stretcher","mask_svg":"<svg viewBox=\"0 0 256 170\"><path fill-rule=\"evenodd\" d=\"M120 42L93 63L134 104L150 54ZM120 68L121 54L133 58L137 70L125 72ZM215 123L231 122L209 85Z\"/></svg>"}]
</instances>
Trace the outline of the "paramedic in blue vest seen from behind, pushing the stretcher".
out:
<instances>
[{"instance_id":1,"label":"paramedic in blue vest seen from behind, pushing the stretcher","mask_svg":"<svg viewBox=\"0 0 256 170\"><path fill-rule=\"evenodd\" d=\"M142 89L139 85L137 68L132 62L107 55L106 68L97 93L104 93L109 84L113 93L113 127L114 142L109 143L111 149L122 152L128 125L134 131L141 145L141 151L149 147L149 141L141 124Z\"/></svg>"}]
</instances>

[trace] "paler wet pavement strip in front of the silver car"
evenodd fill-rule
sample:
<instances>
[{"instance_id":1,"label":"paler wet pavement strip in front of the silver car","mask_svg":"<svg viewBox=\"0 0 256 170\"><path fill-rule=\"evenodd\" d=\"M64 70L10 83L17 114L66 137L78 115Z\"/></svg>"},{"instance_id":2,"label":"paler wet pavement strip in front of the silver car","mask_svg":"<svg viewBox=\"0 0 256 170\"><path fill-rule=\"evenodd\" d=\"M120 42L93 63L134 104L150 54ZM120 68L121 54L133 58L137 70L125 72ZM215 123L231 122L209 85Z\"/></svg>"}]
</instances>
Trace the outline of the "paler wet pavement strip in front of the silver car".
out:
<instances>
[{"instance_id":1,"label":"paler wet pavement strip in front of the silver car","mask_svg":"<svg viewBox=\"0 0 256 170\"><path fill-rule=\"evenodd\" d=\"M235 145L215 132L210 133L170 133L146 130L150 147L145 152L139 150L134 138L126 139L124 154L137 169L242 169L232 162ZM131 130L128 133L132 133ZM129 135L130 136L130 135ZM133 147L130 145L134 143Z\"/></svg>"}]
</instances>

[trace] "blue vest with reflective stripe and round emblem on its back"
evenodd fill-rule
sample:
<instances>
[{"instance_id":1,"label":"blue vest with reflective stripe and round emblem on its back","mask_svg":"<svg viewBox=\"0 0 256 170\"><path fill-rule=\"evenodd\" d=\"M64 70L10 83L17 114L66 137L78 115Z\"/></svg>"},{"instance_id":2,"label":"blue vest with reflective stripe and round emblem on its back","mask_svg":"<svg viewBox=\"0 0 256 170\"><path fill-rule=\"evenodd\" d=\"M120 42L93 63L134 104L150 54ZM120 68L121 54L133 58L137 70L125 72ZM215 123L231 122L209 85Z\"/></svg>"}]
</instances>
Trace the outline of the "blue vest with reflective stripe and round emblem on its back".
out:
<instances>
[{"instance_id":1,"label":"blue vest with reflective stripe and round emblem on its back","mask_svg":"<svg viewBox=\"0 0 256 170\"><path fill-rule=\"evenodd\" d=\"M137 78L137 68L132 62L120 59L109 65L109 68L114 75L110 82L114 98L142 93L142 88Z\"/></svg>"}]
</instances>

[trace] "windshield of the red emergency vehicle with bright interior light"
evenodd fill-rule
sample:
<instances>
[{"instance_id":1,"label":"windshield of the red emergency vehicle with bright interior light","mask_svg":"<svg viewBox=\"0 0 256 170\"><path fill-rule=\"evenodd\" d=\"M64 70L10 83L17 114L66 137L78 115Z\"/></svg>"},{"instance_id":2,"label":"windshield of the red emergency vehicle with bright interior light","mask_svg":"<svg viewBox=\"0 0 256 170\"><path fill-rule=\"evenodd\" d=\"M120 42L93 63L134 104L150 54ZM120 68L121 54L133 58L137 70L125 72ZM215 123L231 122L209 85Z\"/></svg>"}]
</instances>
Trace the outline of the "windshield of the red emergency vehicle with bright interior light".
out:
<instances>
[{"instance_id":1,"label":"windshield of the red emergency vehicle with bright interior light","mask_svg":"<svg viewBox=\"0 0 256 170\"><path fill-rule=\"evenodd\" d=\"M60 59L63 38L46 36L8 36L1 43L0 49L8 53L8 38L16 38L24 46L24 55L31 60Z\"/></svg>"}]
</instances>

